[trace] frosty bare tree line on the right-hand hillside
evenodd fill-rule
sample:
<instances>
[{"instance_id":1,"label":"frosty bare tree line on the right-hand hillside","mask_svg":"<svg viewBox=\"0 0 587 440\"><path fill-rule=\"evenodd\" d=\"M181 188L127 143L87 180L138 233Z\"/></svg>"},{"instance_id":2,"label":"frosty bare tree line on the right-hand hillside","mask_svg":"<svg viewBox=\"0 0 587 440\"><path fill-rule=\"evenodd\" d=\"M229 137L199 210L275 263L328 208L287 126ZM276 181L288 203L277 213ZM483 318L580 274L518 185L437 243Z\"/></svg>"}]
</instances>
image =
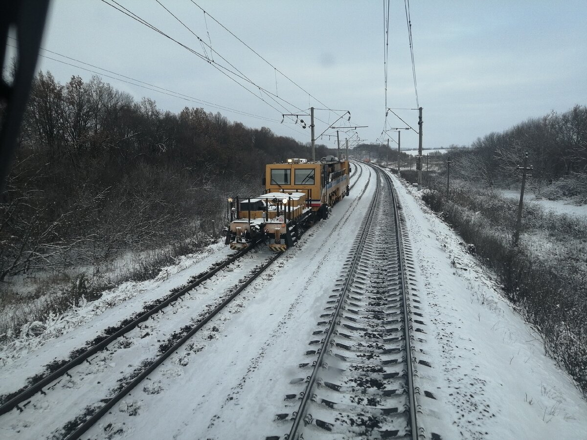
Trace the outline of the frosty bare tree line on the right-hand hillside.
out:
<instances>
[{"instance_id":1,"label":"frosty bare tree line on the right-hand hillside","mask_svg":"<svg viewBox=\"0 0 587 440\"><path fill-rule=\"evenodd\" d=\"M587 200L587 107L576 105L565 113L552 111L528 119L502 133L490 133L469 147L451 145L456 177L483 182L488 187L519 181L518 167L528 153L532 188L541 193L551 184L561 195Z\"/></svg>"}]
</instances>

